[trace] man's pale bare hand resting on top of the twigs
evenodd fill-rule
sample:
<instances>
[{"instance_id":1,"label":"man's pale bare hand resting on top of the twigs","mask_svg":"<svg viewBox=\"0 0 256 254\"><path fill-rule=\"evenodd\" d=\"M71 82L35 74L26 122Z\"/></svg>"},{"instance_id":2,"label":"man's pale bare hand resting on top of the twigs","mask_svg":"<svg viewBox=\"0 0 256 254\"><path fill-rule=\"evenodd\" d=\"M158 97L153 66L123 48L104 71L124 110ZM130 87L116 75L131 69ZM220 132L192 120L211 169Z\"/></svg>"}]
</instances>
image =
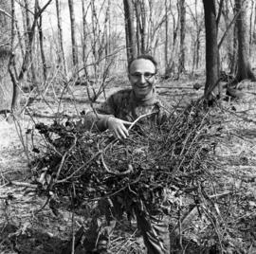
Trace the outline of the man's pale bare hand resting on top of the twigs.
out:
<instances>
[{"instance_id":1,"label":"man's pale bare hand resting on top of the twigs","mask_svg":"<svg viewBox=\"0 0 256 254\"><path fill-rule=\"evenodd\" d=\"M110 117L107 120L107 128L114 133L119 139L124 139L129 136L128 130L124 125L132 125L133 123L119 118Z\"/></svg>"}]
</instances>

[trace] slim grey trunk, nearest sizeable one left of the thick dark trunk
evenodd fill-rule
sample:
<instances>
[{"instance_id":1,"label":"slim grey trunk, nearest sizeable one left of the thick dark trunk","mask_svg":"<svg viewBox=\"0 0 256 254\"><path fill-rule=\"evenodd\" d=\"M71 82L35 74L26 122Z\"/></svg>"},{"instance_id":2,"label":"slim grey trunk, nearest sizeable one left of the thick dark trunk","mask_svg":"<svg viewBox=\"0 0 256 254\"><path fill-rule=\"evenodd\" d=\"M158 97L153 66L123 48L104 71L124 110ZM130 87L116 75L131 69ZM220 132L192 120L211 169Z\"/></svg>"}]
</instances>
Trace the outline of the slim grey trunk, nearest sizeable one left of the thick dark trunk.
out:
<instances>
[{"instance_id":1,"label":"slim grey trunk, nearest sizeable one left of the thick dark trunk","mask_svg":"<svg viewBox=\"0 0 256 254\"><path fill-rule=\"evenodd\" d=\"M178 74L185 72L185 26L186 26L186 8L185 0L181 0L179 3L180 9L180 51L179 51L179 60L178 60Z\"/></svg>"}]
</instances>

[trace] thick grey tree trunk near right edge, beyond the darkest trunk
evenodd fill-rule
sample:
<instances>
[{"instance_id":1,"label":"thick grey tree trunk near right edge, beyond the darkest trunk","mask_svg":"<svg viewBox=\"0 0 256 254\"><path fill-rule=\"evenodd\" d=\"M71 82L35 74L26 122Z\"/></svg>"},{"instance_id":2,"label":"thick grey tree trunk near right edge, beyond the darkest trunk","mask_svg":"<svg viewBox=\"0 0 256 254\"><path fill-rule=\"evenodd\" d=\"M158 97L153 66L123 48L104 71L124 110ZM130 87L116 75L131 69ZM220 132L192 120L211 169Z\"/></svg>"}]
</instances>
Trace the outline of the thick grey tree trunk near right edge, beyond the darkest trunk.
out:
<instances>
[{"instance_id":1,"label":"thick grey tree trunk near right edge, beyond the darkest trunk","mask_svg":"<svg viewBox=\"0 0 256 254\"><path fill-rule=\"evenodd\" d=\"M244 2L244 4L243 4ZM239 11L237 25L238 56L236 82L249 79L256 81L249 63L249 34L247 26L247 1L235 0L236 11Z\"/></svg>"}]
</instances>

